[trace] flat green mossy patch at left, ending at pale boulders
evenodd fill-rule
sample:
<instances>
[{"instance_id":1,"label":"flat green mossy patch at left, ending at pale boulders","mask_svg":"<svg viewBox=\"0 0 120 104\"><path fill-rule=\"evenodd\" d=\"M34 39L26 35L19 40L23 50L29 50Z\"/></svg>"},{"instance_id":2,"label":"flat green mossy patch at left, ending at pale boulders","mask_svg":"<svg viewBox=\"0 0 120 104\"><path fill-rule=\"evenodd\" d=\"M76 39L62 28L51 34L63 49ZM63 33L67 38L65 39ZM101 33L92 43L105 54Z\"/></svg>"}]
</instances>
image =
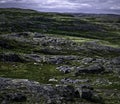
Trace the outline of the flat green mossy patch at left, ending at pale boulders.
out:
<instances>
[{"instance_id":1,"label":"flat green mossy patch at left, ending at pale boulders","mask_svg":"<svg viewBox=\"0 0 120 104\"><path fill-rule=\"evenodd\" d=\"M52 77L61 76L55 65L34 63L0 63L0 76L21 78L48 83Z\"/></svg>"}]
</instances>

